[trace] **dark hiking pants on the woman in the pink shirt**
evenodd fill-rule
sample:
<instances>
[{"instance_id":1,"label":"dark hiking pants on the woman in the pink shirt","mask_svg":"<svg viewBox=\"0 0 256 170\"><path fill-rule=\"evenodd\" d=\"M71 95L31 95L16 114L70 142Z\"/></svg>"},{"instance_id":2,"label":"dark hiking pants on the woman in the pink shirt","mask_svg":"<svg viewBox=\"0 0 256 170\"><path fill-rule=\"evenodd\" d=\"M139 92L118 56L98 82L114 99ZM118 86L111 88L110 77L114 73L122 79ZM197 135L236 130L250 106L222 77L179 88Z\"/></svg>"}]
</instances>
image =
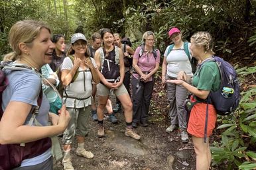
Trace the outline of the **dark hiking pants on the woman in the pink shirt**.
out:
<instances>
[{"instance_id":1,"label":"dark hiking pants on the woman in the pink shirt","mask_svg":"<svg viewBox=\"0 0 256 170\"><path fill-rule=\"evenodd\" d=\"M144 83L132 76L131 85L133 88L133 122L147 122L154 80Z\"/></svg>"}]
</instances>

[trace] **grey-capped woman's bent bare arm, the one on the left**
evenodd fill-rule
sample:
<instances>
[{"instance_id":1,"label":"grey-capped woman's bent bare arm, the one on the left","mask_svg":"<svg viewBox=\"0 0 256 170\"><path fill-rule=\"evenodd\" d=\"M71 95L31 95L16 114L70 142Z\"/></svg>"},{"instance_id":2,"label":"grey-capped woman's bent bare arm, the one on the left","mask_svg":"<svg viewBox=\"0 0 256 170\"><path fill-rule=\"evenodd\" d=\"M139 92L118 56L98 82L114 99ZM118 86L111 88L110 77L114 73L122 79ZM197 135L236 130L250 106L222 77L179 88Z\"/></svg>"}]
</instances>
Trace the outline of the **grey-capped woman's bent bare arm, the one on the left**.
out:
<instances>
[{"instance_id":1,"label":"grey-capped woman's bent bare arm, the one on the left","mask_svg":"<svg viewBox=\"0 0 256 170\"><path fill-rule=\"evenodd\" d=\"M80 64L81 64L80 58L74 58L74 65L71 69L62 69L61 80L62 80L62 84L65 87L71 83L74 75L76 74L76 70L80 67Z\"/></svg>"}]
</instances>

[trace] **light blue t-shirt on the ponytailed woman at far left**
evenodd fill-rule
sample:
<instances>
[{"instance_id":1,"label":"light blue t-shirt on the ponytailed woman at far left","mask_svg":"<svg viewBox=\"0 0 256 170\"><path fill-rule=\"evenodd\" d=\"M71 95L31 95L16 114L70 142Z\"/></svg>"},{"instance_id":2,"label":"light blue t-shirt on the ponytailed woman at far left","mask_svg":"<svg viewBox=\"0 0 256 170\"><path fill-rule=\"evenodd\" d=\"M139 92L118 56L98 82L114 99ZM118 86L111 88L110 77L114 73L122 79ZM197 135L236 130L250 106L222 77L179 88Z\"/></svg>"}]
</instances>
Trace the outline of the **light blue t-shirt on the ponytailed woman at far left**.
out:
<instances>
[{"instance_id":1,"label":"light blue t-shirt on the ponytailed woman at far left","mask_svg":"<svg viewBox=\"0 0 256 170\"><path fill-rule=\"evenodd\" d=\"M5 70L7 78L9 79L9 85L3 91L2 108L5 110L9 101L19 101L27 103L32 106L37 106L37 99L41 89L41 79L34 71L10 71ZM42 97L42 104L39 108L38 114L36 114L36 120L42 124L42 126L48 126L48 112L50 106L45 95ZM19 112L17 112L19 114ZM29 124L29 120L32 114L27 116L24 124ZM36 165L42 163L51 156L50 149L33 157L31 159L23 160L21 166Z\"/></svg>"}]
</instances>

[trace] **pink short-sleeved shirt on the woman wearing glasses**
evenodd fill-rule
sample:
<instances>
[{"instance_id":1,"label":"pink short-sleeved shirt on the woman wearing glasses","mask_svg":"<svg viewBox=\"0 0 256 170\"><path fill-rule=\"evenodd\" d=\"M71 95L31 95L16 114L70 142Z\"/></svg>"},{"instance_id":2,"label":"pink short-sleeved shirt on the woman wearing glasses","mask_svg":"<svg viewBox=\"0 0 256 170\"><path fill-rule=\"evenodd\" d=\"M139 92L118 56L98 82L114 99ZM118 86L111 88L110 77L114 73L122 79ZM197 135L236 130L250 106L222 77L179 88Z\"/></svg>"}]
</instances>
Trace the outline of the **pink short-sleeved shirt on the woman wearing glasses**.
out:
<instances>
[{"instance_id":1,"label":"pink short-sleeved shirt on the woman wearing glasses","mask_svg":"<svg viewBox=\"0 0 256 170\"><path fill-rule=\"evenodd\" d=\"M134 59L138 60L138 66L141 69L141 71L148 71L151 72L157 63L160 63L160 52L159 50L157 50L157 58L154 58L154 54L153 52L143 52L142 56L139 57L139 52L141 51L141 46L139 46L136 50L135 50L135 54L133 55ZM137 73L133 73L133 76L136 79L139 79L139 75ZM152 77L151 79L149 79L149 81L152 81Z\"/></svg>"}]
</instances>

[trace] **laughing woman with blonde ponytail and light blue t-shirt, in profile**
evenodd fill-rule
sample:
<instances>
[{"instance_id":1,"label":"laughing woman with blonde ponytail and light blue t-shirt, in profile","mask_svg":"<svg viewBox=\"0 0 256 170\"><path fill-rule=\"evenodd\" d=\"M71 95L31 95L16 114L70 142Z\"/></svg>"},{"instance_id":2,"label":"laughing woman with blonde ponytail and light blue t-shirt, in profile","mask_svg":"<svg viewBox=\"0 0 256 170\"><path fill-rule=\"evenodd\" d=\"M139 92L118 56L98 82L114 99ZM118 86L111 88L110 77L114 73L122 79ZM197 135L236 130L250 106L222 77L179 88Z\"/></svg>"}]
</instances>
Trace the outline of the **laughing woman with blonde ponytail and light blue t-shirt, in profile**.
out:
<instances>
[{"instance_id":1,"label":"laughing woman with blonde ponytail and light blue t-shirt, in profile","mask_svg":"<svg viewBox=\"0 0 256 170\"><path fill-rule=\"evenodd\" d=\"M3 116L0 121L0 144L17 144L16 146L19 147L19 149L13 149L13 152L9 153L10 160L5 159L5 161L13 163L13 158L16 158L15 161L18 162L15 163L20 166L15 170L53 169L52 143L48 137L62 133L68 125L70 115L65 105L59 112L60 116L49 114L49 103L42 94L41 79L34 71L52 61L55 46L50 40L50 28L38 21L16 22L9 32L9 44L13 52L7 54L4 60L15 61L11 65L17 65L17 67L20 65L28 69L4 70L9 79L9 85L2 94ZM48 126L49 120L52 120L52 126ZM14 145L9 146L11 148ZM21 149L22 147L25 149ZM23 153L25 155L21 155Z\"/></svg>"}]
</instances>

